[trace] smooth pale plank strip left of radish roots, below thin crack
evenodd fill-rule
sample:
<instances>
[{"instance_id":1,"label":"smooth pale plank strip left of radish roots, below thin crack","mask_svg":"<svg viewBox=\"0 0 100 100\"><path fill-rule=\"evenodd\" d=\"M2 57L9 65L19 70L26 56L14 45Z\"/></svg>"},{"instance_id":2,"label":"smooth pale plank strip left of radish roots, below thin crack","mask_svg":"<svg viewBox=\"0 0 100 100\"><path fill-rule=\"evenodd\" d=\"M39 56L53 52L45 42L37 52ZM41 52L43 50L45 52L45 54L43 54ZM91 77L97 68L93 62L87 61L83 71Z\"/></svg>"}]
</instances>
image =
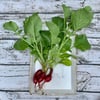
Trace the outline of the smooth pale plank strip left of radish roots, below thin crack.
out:
<instances>
[{"instance_id":1,"label":"smooth pale plank strip left of radish roots, below thin crack","mask_svg":"<svg viewBox=\"0 0 100 100\"><path fill-rule=\"evenodd\" d=\"M8 76L0 77L0 90L28 90L29 77L28 76Z\"/></svg>"}]
</instances>

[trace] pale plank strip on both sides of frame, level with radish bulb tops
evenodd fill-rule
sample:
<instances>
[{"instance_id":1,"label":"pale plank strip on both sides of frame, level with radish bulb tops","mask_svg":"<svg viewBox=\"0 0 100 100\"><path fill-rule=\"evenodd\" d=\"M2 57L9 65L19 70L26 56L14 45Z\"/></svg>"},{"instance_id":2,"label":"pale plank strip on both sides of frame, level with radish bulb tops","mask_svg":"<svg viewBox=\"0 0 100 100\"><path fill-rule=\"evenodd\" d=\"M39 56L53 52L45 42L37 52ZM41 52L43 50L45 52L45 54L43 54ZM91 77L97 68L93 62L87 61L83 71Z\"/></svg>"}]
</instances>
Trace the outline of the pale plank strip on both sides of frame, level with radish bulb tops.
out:
<instances>
[{"instance_id":1,"label":"pale plank strip on both sides of frame, level with radish bulb tops","mask_svg":"<svg viewBox=\"0 0 100 100\"><path fill-rule=\"evenodd\" d=\"M78 72L100 77L100 65L77 65ZM28 76L29 65L0 65L0 77Z\"/></svg>"}]
</instances>

